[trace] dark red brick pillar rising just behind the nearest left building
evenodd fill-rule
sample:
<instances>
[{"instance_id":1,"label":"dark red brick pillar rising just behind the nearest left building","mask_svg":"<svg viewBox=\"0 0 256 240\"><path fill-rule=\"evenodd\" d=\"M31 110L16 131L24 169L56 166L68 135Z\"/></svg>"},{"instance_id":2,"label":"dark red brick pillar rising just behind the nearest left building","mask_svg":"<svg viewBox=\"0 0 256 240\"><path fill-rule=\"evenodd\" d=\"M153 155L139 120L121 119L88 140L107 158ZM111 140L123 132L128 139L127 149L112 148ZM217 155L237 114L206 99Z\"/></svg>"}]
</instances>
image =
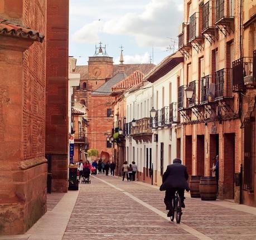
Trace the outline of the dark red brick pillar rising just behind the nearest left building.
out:
<instances>
[{"instance_id":1,"label":"dark red brick pillar rising just behind the nearest left building","mask_svg":"<svg viewBox=\"0 0 256 240\"><path fill-rule=\"evenodd\" d=\"M53 192L67 192L68 40L69 1L47 1L45 152L51 156Z\"/></svg>"}]
</instances>

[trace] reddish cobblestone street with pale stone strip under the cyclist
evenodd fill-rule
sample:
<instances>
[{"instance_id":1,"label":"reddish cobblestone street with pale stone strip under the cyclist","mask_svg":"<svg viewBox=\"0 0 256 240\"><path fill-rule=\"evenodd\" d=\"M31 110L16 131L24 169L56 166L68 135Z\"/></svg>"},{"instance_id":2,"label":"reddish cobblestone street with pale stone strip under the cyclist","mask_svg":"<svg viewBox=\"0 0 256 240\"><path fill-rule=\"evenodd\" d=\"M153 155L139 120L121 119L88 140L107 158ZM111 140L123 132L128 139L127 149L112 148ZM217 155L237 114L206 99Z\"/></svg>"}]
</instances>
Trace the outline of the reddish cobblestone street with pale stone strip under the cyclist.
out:
<instances>
[{"instance_id":1,"label":"reddish cobblestone street with pale stone strip under the cyclist","mask_svg":"<svg viewBox=\"0 0 256 240\"><path fill-rule=\"evenodd\" d=\"M163 195L145 183L96 175L91 184L80 184L79 194L50 195L48 212L27 234L0 239L256 239L255 208L187 195L176 224L166 217Z\"/></svg>"}]
</instances>

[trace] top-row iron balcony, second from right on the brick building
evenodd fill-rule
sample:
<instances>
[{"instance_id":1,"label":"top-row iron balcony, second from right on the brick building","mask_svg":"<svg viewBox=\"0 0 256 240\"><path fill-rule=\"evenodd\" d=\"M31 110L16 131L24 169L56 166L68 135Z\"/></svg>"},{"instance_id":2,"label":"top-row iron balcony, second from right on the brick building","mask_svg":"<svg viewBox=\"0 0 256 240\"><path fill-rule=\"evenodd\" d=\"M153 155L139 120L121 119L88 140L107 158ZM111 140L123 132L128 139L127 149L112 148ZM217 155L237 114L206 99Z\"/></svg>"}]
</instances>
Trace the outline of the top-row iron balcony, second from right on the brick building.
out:
<instances>
[{"instance_id":1,"label":"top-row iron balcony, second from right on the brick building","mask_svg":"<svg viewBox=\"0 0 256 240\"><path fill-rule=\"evenodd\" d=\"M210 43L215 42L216 27L213 24L214 14L212 14L213 1L209 1L202 6L202 34Z\"/></svg>"}]
</instances>

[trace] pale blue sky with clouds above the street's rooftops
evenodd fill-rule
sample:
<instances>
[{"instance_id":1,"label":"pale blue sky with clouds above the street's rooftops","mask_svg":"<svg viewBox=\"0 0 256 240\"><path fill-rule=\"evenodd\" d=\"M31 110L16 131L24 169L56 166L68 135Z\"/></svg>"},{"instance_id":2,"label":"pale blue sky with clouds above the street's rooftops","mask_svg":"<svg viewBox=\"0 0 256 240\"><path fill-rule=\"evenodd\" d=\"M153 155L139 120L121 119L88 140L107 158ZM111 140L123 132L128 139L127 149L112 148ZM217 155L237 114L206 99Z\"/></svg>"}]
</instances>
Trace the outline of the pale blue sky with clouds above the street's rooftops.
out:
<instances>
[{"instance_id":1,"label":"pale blue sky with clouds above the street's rooftops","mask_svg":"<svg viewBox=\"0 0 256 240\"><path fill-rule=\"evenodd\" d=\"M183 0L70 0L69 56L87 65L103 42L119 64L161 62L177 48ZM174 43L175 41L175 43Z\"/></svg>"}]
</instances>

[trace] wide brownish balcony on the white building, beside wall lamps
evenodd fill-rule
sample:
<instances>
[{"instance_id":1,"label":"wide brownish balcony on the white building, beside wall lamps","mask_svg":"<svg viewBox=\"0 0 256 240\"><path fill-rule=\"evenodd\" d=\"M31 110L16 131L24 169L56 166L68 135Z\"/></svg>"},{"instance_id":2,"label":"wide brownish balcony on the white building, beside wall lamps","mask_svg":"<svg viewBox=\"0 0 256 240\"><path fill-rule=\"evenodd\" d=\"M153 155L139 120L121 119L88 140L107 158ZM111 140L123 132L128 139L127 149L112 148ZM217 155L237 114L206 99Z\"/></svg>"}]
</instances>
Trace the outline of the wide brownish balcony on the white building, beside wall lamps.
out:
<instances>
[{"instance_id":1,"label":"wide brownish balcony on the white building, beside wall lamps","mask_svg":"<svg viewBox=\"0 0 256 240\"><path fill-rule=\"evenodd\" d=\"M150 128L150 117L144 117L143 119L136 120L136 126L131 128L131 136L136 143L151 142L152 141L152 129Z\"/></svg>"}]
</instances>

